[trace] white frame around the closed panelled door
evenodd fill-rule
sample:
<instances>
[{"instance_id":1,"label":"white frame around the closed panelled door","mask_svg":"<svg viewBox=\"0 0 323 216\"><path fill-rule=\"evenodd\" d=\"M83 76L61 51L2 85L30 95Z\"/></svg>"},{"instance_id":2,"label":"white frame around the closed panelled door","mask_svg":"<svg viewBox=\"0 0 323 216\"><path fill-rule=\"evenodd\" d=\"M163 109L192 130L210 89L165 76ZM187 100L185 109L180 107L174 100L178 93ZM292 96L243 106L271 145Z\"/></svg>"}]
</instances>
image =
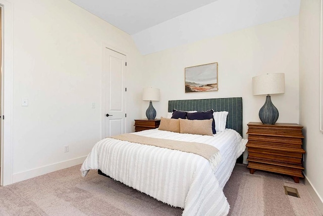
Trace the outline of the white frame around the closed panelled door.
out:
<instances>
[{"instance_id":1,"label":"white frame around the closed panelled door","mask_svg":"<svg viewBox=\"0 0 323 216\"><path fill-rule=\"evenodd\" d=\"M109 49L112 51L115 51L117 53L120 53L124 56L126 56L126 62L128 61L127 57L128 54L114 46L111 46L109 44L107 44L106 42L102 42L102 58L101 58L101 139L105 138L105 91L104 91L104 87L105 87L105 77L104 77L104 57L105 57L105 49ZM128 70L127 70L126 66L126 78L125 78L125 83L126 83L126 88L128 86L128 81L127 81L127 77L128 77ZM128 105L129 105L129 97L128 97L128 92L129 90L126 91L126 113L127 113L127 117L126 117L126 133L128 133L129 131L129 115L128 115Z\"/></svg>"}]
</instances>

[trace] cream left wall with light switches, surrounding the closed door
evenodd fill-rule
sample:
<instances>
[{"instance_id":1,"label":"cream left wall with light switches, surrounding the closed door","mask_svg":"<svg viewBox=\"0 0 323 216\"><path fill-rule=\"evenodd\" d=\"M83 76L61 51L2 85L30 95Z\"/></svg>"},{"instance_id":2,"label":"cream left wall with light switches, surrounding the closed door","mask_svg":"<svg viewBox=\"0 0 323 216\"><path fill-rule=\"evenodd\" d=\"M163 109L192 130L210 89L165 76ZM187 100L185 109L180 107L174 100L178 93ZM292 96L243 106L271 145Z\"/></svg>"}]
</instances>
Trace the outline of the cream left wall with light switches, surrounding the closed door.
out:
<instances>
[{"instance_id":1,"label":"cream left wall with light switches, surrounding the closed door","mask_svg":"<svg viewBox=\"0 0 323 216\"><path fill-rule=\"evenodd\" d=\"M17 182L82 162L100 140L102 43L127 54L133 131L133 119L141 116L142 56L130 35L67 0L11 2ZM28 107L21 106L22 98Z\"/></svg>"}]
</instances>

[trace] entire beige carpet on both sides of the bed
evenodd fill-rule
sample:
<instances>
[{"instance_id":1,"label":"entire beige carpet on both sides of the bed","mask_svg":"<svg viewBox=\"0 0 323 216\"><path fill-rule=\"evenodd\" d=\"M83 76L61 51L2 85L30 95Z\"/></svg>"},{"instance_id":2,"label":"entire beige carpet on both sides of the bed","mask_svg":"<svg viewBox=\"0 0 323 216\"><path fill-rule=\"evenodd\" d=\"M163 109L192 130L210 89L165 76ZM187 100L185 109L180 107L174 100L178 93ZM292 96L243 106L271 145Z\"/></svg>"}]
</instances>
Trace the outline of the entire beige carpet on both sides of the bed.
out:
<instances>
[{"instance_id":1,"label":"entire beige carpet on both sides of the bed","mask_svg":"<svg viewBox=\"0 0 323 216\"><path fill-rule=\"evenodd\" d=\"M80 166L0 187L0 215L181 215L182 209L159 202ZM285 195L284 185L300 198ZM321 215L302 184L289 177L236 165L225 187L230 215Z\"/></svg>"}]
</instances>

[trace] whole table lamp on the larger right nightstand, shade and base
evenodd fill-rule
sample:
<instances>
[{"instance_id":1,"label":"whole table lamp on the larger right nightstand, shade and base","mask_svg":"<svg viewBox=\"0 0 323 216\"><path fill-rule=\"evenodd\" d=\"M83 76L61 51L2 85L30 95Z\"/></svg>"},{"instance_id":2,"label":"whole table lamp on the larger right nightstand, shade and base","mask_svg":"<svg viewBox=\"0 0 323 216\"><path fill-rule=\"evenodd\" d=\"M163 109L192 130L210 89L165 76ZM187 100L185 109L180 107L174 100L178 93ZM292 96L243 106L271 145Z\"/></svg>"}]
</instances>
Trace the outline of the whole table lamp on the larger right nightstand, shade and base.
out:
<instances>
[{"instance_id":1,"label":"whole table lamp on the larger right nightstand, shade and base","mask_svg":"<svg viewBox=\"0 0 323 216\"><path fill-rule=\"evenodd\" d=\"M270 95L285 93L285 74L267 73L252 77L252 92L253 95L267 95L264 105L259 110L259 118L263 124L275 124L279 113Z\"/></svg>"}]
</instances>

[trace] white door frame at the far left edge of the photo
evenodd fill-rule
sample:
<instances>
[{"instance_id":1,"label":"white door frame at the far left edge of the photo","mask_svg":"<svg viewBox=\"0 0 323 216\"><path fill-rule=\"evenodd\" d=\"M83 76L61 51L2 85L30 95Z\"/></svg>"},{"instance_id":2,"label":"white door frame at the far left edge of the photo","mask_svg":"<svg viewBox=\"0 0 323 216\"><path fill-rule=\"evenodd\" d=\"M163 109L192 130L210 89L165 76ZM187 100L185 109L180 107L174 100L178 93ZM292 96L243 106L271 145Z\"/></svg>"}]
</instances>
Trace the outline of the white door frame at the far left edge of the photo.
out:
<instances>
[{"instance_id":1,"label":"white door frame at the far left edge of the photo","mask_svg":"<svg viewBox=\"0 0 323 216\"><path fill-rule=\"evenodd\" d=\"M13 13L12 3L0 0L2 7L2 115L0 186L13 183Z\"/></svg>"}]
</instances>

